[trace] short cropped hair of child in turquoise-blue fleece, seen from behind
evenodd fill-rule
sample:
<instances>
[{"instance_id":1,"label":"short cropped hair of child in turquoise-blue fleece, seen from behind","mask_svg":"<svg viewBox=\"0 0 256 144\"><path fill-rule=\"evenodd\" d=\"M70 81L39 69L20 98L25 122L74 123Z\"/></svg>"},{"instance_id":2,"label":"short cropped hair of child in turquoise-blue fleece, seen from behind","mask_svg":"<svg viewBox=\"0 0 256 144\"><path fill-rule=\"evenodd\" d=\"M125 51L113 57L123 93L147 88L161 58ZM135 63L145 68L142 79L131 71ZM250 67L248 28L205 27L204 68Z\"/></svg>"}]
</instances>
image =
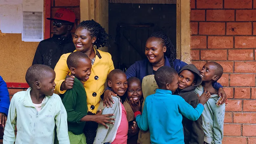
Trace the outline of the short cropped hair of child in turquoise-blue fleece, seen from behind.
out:
<instances>
[{"instance_id":1,"label":"short cropped hair of child in turquoise-blue fleece, seen from behind","mask_svg":"<svg viewBox=\"0 0 256 144\"><path fill-rule=\"evenodd\" d=\"M176 74L178 73L172 67L168 67L168 66L160 67L155 73L155 80L157 82L158 87L162 87L167 83L171 84Z\"/></svg>"}]
</instances>

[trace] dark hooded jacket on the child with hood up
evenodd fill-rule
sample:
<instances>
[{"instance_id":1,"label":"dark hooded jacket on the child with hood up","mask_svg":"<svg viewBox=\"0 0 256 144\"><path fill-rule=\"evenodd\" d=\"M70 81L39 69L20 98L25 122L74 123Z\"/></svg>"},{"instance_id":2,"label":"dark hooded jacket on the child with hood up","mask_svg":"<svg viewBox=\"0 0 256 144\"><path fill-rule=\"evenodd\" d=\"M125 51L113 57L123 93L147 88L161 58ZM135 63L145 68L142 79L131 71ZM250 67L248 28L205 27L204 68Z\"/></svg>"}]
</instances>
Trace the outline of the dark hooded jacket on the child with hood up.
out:
<instances>
[{"instance_id":1,"label":"dark hooded jacket on the child with hood up","mask_svg":"<svg viewBox=\"0 0 256 144\"><path fill-rule=\"evenodd\" d=\"M194 108L196 108L196 106L199 103L199 99L197 97L197 94L194 92L194 90L196 89L197 86L199 86L202 83L202 78L200 76L198 69L193 64L185 65L184 67L182 67L182 69L178 74L180 74L181 71L185 69L193 71L194 73L197 74L196 76L197 82L195 85L187 87L183 90L177 89L174 94L181 96L187 103L189 103ZM182 116L182 125L184 128L185 144L203 144L204 133L203 133L202 124L203 124L202 116L200 116L199 119L196 121L191 121L188 118Z\"/></svg>"}]
</instances>

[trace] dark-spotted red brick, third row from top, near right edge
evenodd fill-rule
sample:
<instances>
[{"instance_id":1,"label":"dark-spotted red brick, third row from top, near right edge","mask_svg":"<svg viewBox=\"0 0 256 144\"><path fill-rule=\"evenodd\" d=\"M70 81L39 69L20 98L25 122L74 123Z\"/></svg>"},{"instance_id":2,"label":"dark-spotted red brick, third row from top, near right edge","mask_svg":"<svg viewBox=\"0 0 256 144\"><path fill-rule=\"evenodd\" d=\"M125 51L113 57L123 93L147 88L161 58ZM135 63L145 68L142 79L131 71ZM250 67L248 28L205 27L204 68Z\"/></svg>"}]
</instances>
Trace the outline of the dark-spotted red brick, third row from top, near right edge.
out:
<instances>
[{"instance_id":1,"label":"dark-spotted red brick, third row from top, near right edge","mask_svg":"<svg viewBox=\"0 0 256 144\"><path fill-rule=\"evenodd\" d=\"M227 35L251 35L251 23L227 23Z\"/></svg>"}]
</instances>

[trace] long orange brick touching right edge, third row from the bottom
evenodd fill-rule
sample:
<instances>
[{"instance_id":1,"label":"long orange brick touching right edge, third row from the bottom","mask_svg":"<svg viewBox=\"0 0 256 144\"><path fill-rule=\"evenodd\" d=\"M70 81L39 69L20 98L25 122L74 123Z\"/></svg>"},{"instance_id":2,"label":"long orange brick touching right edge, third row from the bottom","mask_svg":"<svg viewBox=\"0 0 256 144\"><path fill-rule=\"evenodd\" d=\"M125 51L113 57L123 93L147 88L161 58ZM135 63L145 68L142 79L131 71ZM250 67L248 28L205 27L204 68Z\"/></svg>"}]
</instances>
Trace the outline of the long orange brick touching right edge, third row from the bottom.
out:
<instances>
[{"instance_id":1,"label":"long orange brick touching right edge, third row from the bottom","mask_svg":"<svg viewBox=\"0 0 256 144\"><path fill-rule=\"evenodd\" d=\"M233 113L234 123L256 123L256 113Z\"/></svg>"}]
</instances>

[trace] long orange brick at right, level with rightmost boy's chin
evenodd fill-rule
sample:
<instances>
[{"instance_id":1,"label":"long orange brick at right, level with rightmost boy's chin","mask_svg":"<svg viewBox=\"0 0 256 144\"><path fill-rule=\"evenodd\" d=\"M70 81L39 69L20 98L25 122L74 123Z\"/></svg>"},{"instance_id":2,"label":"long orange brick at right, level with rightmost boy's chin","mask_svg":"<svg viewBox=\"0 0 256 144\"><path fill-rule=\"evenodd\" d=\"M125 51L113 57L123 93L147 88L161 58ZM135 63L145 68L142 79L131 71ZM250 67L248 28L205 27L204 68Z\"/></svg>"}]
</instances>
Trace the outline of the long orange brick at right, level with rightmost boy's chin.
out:
<instances>
[{"instance_id":1,"label":"long orange brick at right, level with rightmost boy's chin","mask_svg":"<svg viewBox=\"0 0 256 144\"><path fill-rule=\"evenodd\" d=\"M255 74L230 74L230 86L255 86Z\"/></svg>"}]
</instances>

